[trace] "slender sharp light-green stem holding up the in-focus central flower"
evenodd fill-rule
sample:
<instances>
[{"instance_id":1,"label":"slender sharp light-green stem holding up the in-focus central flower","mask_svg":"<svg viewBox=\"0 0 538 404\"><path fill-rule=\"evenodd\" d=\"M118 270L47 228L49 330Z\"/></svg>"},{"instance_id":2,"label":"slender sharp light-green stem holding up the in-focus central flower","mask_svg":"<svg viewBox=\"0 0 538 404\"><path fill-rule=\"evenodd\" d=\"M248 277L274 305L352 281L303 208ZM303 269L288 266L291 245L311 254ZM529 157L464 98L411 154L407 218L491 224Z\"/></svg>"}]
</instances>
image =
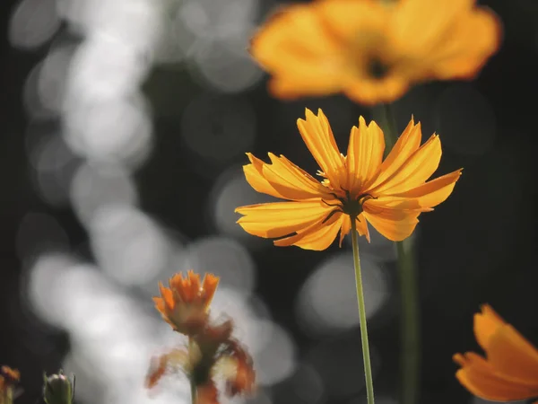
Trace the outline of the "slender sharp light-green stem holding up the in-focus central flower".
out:
<instances>
[{"instance_id":1,"label":"slender sharp light-green stem holding up the in-focus central flower","mask_svg":"<svg viewBox=\"0 0 538 404\"><path fill-rule=\"evenodd\" d=\"M353 243L353 266L355 267L355 283L357 285L357 302L359 303L360 341L362 342L362 359L364 360L364 377L366 378L366 400L374 404L374 381L372 379L372 365L369 356L368 329L366 326L366 307L364 305L364 292L362 290L362 277L360 275L359 239L357 237L356 218L351 217L351 241Z\"/></svg>"}]
</instances>

